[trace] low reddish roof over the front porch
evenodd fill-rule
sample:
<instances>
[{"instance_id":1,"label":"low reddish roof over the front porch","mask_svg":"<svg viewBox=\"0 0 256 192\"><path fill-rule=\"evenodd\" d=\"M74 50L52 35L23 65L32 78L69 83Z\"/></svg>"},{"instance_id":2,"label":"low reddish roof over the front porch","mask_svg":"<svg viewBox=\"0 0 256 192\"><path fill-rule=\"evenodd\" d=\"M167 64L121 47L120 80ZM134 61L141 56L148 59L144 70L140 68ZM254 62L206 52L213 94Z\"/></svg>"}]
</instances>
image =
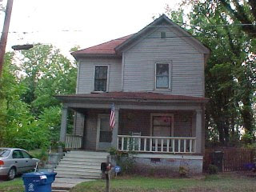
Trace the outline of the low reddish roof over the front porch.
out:
<instances>
[{"instance_id":1,"label":"low reddish roof over the front porch","mask_svg":"<svg viewBox=\"0 0 256 192\"><path fill-rule=\"evenodd\" d=\"M192 100L192 101L206 101L207 98L192 97L185 95L174 94L158 94L150 92L109 92L98 94L71 94L59 95L57 97L70 97L70 98L116 98L116 99L142 99L142 100Z\"/></svg>"}]
</instances>

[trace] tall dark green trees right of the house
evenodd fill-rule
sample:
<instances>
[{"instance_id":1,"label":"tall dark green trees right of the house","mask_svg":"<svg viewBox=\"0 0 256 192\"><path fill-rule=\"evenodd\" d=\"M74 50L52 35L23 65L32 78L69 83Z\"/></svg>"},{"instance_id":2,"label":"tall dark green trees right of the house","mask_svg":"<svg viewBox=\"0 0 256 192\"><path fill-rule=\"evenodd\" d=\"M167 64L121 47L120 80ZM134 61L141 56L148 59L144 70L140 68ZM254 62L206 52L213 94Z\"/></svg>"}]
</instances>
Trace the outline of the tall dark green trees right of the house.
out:
<instances>
[{"instance_id":1,"label":"tall dark green trees right of the house","mask_svg":"<svg viewBox=\"0 0 256 192\"><path fill-rule=\"evenodd\" d=\"M182 9L187 6L192 10L185 15ZM228 6L230 1L226 0L186 0L178 11L169 11L169 16L176 22L189 23L190 34L211 50L205 69L206 98L210 98L206 105L206 141L234 146L239 145L241 129L255 134L256 36L245 29L252 26L239 26L241 18L230 9L247 17L256 7L248 2L240 4L241 9L238 4L230 9ZM255 22L255 18L250 19L249 23Z\"/></svg>"}]
</instances>

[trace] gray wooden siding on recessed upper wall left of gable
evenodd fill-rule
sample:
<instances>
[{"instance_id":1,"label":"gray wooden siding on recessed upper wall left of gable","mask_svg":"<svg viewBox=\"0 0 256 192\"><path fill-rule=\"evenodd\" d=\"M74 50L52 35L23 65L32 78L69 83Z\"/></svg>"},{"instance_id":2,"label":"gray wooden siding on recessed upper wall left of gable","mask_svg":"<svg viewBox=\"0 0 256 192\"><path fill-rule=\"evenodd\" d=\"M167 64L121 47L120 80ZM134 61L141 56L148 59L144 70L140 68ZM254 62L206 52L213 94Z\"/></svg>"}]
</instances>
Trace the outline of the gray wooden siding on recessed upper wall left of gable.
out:
<instances>
[{"instance_id":1,"label":"gray wooden siding on recessed upper wall left of gable","mask_svg":"<svg viewBox=\"0 0 256 192\"><path fill-rule=\"evenodd\" d=\"M97 65L109 65L109 90L122 90L121 58L86 58L79 60L77 94L90 94L94 91L94 68Z\"/></svg>"}]
</instances>

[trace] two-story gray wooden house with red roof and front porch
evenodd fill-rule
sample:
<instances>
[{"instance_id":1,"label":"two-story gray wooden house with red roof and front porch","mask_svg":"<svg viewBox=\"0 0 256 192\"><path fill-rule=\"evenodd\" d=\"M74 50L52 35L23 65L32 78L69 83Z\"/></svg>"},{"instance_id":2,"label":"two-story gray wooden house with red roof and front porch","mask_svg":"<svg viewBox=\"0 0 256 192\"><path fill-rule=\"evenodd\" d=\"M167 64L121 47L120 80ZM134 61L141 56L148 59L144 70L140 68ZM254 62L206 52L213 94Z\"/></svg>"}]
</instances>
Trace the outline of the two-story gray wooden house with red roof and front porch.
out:
<instances>
[{"instance_id":1,"label":"two-story gray wooden house with red roof and front porch","mask_svg":"<svg viewBox=\"0 0 256 192\"><path fill-rule=\"evenodd\" d=\"M162 15L136 34L72 55L78 61L77 93L58 96L60 141L67 149L112 146L136 150L149 161L196 160L202 172L206 46ZM76 111L73 135L66 135L68 108Z\"/></svg>"}]
</instances>

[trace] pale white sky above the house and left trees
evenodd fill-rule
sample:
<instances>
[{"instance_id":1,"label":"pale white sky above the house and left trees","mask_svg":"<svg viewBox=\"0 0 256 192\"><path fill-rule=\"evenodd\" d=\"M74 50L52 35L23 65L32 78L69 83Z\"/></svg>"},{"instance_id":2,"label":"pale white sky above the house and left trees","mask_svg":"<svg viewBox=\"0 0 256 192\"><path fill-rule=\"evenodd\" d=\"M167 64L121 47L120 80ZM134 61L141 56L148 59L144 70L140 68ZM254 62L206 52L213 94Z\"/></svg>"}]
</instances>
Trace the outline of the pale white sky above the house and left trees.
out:
<instances>
[{"instance_id":1,"label":"pale white sky above the house and left trees","mask_svg":"<svg viewBox=\"0 0 256 192\"><path fill-rule=\"evenodd\" d=\"M7 0L0 0L6 6ZM22 44L52 44L69 54L134 34L182 0L14 0L6 50ZM0 14L0 30L4 20Z\"/></svg>"}]
</instances>

